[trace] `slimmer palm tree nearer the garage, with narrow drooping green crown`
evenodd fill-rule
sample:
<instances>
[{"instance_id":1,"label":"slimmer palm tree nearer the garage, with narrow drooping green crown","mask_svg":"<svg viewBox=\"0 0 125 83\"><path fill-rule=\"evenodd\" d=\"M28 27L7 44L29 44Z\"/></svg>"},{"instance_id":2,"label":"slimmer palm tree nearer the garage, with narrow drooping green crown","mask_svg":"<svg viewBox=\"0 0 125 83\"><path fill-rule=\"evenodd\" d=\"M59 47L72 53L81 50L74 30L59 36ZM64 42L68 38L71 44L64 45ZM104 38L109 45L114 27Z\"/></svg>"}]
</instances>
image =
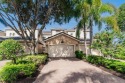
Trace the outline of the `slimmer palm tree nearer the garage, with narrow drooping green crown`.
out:
<instances>
[{"instance_id":1,"label":"slimmer palm tree nearer the garage, with narrow drooping green crown","mask_svg":"<svg viewBox=\"0 0 125 83\"><path fill-rule=\"evenodd\" d=\"M88 25L90 6L87 3L87 1L82 1L81 0L80 5L78 7L81 10L81 12L80 12L81 15L80 15L80 21L79 21L78 26L77 26L77 33L76 33L76 35L79 38L80 30L81 29L84 30L84 49L85 49L85 54L87 55L86 29L87 29L87 25Z\"/></svg>"}]
</instances>

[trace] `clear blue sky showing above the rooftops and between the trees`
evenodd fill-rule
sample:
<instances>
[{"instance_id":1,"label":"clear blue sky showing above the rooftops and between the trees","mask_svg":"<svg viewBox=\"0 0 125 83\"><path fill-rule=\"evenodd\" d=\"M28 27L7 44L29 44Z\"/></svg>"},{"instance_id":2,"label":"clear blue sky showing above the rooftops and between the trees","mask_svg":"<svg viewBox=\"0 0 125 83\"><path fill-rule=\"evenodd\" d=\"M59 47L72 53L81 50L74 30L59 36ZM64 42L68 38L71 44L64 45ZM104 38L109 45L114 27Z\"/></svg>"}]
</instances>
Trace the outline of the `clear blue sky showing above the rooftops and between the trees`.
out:
<instances>
[{"instance_id":1,"label":"clear blue sky showing above the rooftops and between the trees","mask_svg":"<svg viewBox=\"0 0 125 83\"><path fill-rule=\"evenodd\" d=\"M102 0L102 2L104 2L104 3L111 3L111 4L113 4L114 6L116 6L118 8L121 4L125 3L125 0ZM72 19L69 23L62 24L62 25L59 25L57 23L52 23L51 25L48 24L45 27L45 30L48 31L51 28L72 29L72 28L75 28L76 26L77 26L77 22L74 19ZM4 30L5 28L6 27L0 23L0 30ZM104 30L104 28L105 28L105 25L103 25L102 30ZM94 31L94 33L98 32L97 26L94 26L94 30L93 31Z\"/></svg>"}]
</instances>

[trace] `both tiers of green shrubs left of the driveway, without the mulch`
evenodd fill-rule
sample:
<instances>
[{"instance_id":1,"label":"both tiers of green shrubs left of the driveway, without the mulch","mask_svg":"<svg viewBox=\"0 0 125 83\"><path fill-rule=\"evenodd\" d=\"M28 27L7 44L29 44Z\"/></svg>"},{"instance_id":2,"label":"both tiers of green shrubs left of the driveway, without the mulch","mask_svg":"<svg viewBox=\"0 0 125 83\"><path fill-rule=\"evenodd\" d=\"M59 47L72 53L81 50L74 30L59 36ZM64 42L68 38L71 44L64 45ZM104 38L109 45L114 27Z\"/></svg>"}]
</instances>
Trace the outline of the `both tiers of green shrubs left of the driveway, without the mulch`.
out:
<instances>
[{"instance_id":1,"label":"both tiers of green shrubs left of the driveway, without the mulch","mask_svg":"<svg viewBox=\"0 0 125 83\"><path fill-rule=\"evenodd\" d=\"M31 76L39 64L45 63L46 55L18 57L16 64L8 62L0 71L0 80L13 83L18 76Z\"/></svg>"}]
</instances>

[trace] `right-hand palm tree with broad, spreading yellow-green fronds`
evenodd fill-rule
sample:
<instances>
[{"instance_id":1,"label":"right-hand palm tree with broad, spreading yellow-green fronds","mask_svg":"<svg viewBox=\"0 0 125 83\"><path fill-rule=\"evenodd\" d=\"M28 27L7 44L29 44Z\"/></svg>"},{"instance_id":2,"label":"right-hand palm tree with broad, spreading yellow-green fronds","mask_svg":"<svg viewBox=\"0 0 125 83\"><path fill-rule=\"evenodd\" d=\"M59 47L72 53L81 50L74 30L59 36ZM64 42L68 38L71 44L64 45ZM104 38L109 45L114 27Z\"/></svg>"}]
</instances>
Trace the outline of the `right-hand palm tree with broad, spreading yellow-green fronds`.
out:
<instances>
[{"instance_id":1,"label":"right-hand palm tree with broad, spreading yellow-green fronds","mask_svg":"<svg viewBox=\"0 0 125 83\"><path fill-rule=\"evenodd\" d=\"M108 26L113 26L112 28L118 29L117 22L113 22L113 20L116 21L116 18L113 14L116 14L114 11L115 7L111 4L103 4L101 0L93 0L92 5L90 4L90 18L89 18L89 28L90 28L90 46L92 45L93 40L93 23L95 25L98 25L98 28L100 29L102 26L102 22L105 22L108 24ZM109 13L110 16L102 17L102 13ZM112 16L113 15L113 16ZM112 17L112 18L111 18ZM109 19L109 20L107 20ZM109 25L109 23L112 23ZM91 52L91 48L90 48Z\"/></svg>"}]
</instances>

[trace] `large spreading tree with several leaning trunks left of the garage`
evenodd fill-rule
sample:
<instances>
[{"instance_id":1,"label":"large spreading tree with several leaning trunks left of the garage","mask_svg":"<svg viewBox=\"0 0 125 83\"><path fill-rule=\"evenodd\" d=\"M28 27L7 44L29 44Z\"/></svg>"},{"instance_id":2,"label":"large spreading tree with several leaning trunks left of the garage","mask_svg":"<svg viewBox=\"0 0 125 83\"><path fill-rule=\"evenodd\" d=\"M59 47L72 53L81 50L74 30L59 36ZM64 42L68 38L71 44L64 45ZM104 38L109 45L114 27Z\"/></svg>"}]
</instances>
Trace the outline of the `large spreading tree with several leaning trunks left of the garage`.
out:
<instances>
[{"instance_id":1,"label":"large spreading tree with several leaning trunks left of the garage","mask_svg":"<svg viewBox=\"0 0 125 83\"><path fill-rule=\"evenodd\" d=\"M35 54L37 43L43 43L42 30L45 26L50 22L60 24L69 22L74 16L73 9L76 1L2 0L0 2L0 17L7 26L22 37L32 54ZM38 40L35 39L36 29L39 29ZM29 43L29 41L31 42Z\"/></svg>"}]
</instances>

